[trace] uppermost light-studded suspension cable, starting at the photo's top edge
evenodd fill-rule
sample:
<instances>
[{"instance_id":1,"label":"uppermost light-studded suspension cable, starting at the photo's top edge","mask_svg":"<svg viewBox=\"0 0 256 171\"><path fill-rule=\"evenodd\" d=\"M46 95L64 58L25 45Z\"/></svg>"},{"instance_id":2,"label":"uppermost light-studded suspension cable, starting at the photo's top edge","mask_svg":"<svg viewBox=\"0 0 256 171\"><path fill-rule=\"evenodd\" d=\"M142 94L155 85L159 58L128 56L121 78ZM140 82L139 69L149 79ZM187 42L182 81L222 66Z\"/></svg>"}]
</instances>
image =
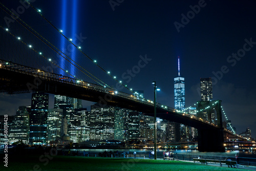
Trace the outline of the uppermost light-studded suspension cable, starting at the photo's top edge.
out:
<instances>
[{"instance_id":1,"label":"uppermost light-studded suspension cable, starting at the photo's top edge","mask_svg":"<svg viewBox=\"0 0 256 171\"><path fill-rule=\"evenodd\" d=\"M29 2L28 4L39 14L41 15L54 29L56 29L62 36L64 36L69 42L71 42L71 44L73 46L76 47L76 49L78 49L84 56L86 56L88 59L90 59L93 63L95 63L95 65L97 67L99 67L103 72L105 72L106 74L110 75L106 70L104 70L102 67L100 67L96 62L94 62L94 60L92 58L90 58L87 54L85 54L81 49L79 49L75 44L73 44L73 42L66 37L63 33L61 33L61 31L59 31L59 29L57 29L44 15L42 15L33 5L31 5ZM116 78L114 78L114 76L110 75L115 81L117 81L118 83L120 83L124 88L126 88L127 90L129 90L130 92L133 93L133 91L129 88L127 88L124 84L122 84L120 81L118 81Z\"/></svg>"}]
</instances>

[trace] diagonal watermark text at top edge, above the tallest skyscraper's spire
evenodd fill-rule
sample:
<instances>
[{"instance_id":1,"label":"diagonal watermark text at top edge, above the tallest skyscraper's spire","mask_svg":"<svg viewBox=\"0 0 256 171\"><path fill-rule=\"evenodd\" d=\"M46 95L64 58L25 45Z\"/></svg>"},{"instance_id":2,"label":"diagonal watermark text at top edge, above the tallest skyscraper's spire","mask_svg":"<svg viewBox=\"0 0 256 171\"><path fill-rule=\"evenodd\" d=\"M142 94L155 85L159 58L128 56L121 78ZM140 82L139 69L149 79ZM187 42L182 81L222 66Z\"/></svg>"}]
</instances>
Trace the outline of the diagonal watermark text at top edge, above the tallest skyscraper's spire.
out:
<instances>
[{"instance_id":1,"label":"diagonal watermark text at top edge, above the tallest skyscraper's spire","mask_svg":"<svg viewBox=\"0 0 256 171\"><path fill-rule=\"evenodd\" d=\"M209 0L210 1L210 0ZM189 8L191 9L190 11L188 11L185 14L181 14L181 22L174 22L174 26L177 29L178 33L180 32L181 28L184 28L191 19L195 18L196 14L198 14L201 11L201 8L204 8L207 4L205 3L204 0L199 0L198 5L194 5L194 6L189 6Z\"/></svg>"}]
</instances>

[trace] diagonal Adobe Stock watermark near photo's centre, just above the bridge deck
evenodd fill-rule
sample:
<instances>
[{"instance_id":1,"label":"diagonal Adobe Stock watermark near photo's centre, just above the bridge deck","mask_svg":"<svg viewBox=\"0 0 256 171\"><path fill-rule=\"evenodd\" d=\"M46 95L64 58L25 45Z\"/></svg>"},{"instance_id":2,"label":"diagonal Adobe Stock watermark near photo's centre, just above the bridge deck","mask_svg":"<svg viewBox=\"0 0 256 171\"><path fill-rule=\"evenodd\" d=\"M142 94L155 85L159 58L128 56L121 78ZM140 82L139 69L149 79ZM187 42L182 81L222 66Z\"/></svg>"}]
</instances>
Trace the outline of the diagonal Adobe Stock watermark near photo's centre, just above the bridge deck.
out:
<instances>
[{"instance_id":1,"label":"diagonal Adobe Stock watermark near photo's centre, just above the bridge deck","mask_svg":"<svg viewBox=\"0 0 256 171\"><path fill-rule=\"evenodd\" d=\"M122 73L122 79L126 83L131 82L132 78L134 78L141 71L141 69L146 67L148 62L150 62L152 60L151 58L147 58L146 54L144 57L142 55L140 55L139 58L140 58L140 60L138 61L137 65L133 66L131 69L127 69L124 73ZM119 82L116 83L116 87L115 87L116 91L120 91L123 88L124 87L122 86L122 84L120 84ZM111 94L105 94L104 98L99 96L98 103L99 103L100 107L103 108L104 106L106 106L107 105L106 101L108 101L108 100L112 100Z\"/></svg>"}]
</instances>

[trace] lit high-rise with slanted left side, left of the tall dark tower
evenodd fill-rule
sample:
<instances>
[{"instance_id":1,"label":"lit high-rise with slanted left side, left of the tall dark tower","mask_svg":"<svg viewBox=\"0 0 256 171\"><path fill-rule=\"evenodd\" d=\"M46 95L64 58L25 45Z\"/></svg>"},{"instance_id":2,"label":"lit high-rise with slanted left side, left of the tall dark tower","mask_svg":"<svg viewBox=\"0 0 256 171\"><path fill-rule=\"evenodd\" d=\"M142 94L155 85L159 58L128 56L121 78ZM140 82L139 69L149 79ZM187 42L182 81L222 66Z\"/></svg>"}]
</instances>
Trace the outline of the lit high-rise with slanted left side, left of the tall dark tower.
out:
<instances>
[{"instance_id":1,"label":"lit high-rise with slanted left side, left of the tall dark tower","mask_svg":"<svg viewBox=\"0 0 256 171\"><path fill-rule=\"evenodd\" d=\"M29 143L29 113L27 106L19 106L12 124L9 126L8 140L10 143Z\"/></svg>"}]
</instances>

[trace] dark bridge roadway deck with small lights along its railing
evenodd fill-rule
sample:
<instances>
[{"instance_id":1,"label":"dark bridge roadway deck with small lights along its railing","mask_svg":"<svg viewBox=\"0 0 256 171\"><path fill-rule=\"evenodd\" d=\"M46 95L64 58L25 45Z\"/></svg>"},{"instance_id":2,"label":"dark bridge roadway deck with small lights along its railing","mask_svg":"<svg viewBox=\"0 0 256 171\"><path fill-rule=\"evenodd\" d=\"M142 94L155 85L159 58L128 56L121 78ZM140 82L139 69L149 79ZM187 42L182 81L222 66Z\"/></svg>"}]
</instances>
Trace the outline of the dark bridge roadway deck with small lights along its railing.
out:
<instances>
[{"instance_id":1,"label":"dark bridge roadway deck with small lights along its railing","mask_svg":"<svg viewBox=\"0 0 256 171\"><path fill-rule=\"evenodd\" d=\"M9 94L45 92L99 102L102 106L118 106L120 108L142 112L148 116L154 116L153 101L123 92L116 92L114 89L105 88L94 83L79 81L75 78L41 71L5 60L0 60L0 92L7 92ZM179 113L175 109L160 103L157 103L157 117L195 127L199 132L200 130L207 130L208 133L218 134L219 137L221 134L221 137L223 137L224 132L222 127L189 114ZM224 131L232 134L227 130ZM206 136L206 132L204 136ZM216 140L218 141L218 139L218 137L215 137L214 142ZM219 146L223 146L223 143L224 139L218 144ZM223 149L216 147L216 149L202 149L202 151L223 151Z\"/></svg>"}]
</instances>

